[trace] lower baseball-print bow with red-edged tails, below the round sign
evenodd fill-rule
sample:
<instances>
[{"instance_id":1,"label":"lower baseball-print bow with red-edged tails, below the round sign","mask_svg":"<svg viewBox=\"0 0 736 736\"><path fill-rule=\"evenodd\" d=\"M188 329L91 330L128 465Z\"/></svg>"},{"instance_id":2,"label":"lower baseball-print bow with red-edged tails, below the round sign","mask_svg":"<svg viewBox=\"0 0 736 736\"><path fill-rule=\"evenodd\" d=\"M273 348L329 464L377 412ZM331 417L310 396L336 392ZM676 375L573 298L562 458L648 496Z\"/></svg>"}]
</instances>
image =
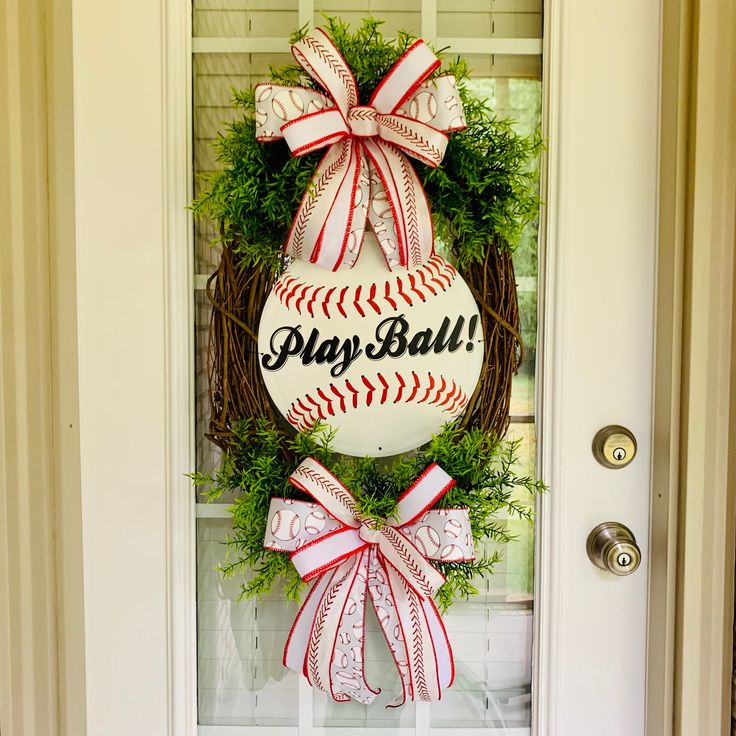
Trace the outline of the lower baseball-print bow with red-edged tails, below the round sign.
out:
<instances>
[{"instance_id":1,"label":"lower baseball-print bow with red-edged tails, below the round sign","mask_svg":"<svg viewBox=\"0 0 736 736\"><path fill-rule=\"evenodd\" d=\"M430 465L398 500L393 517L361 519L355 499L313 458L289 478L316 503L274 498L264 546L287 552L314 581L294 621L284 664L338 702L371 703L363 669L370 600L399 671L390 705L439 700L452 684L452 649L432 600L444 576L431 560L474 559L468 511L432 509L455 481Z\"/></svg>"}]
</instances>

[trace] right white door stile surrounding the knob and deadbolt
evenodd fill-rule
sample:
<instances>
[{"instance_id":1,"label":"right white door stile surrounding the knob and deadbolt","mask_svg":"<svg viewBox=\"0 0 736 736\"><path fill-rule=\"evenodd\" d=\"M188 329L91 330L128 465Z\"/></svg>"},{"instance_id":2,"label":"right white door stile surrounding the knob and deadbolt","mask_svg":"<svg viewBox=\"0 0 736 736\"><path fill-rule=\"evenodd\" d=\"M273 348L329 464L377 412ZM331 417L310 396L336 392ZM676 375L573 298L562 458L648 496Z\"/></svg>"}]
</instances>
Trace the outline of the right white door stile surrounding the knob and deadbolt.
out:
<instances>
[{"instance_id":1,"label":"right white door stile surrounding the knob and deadbolt","mask_svg":"<svg viewBox=\"0 0 736 736\"><path fill-rule=\"evenodd\" d=\"M619 521L648 559L660 7L548 0L545 22L539 405L551 492L537 524L536 733L643 734L646 565L615 579L585 542ZM593 459L607 424L637 438L625 469Z\"/></svg>"}]
</instances>

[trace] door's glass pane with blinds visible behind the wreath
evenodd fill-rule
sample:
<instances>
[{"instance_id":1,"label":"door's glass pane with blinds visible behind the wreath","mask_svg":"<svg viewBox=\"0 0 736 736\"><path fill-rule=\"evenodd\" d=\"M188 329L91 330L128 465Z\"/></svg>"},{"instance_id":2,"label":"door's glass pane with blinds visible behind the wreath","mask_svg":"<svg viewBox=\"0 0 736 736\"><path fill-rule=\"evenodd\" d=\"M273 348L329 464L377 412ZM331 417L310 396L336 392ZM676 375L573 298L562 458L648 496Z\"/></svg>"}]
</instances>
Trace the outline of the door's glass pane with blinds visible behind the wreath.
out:
<instances>
[{"instance_id":1,"label":"door's glass pane with blinds visible behind the wreath","mask_svg":"<svg viewBox=\"0 0 736 736\"><path fill-rule=\"evenodd\" d=\"M425 7L426 6L426 7ZM216 166L212 143L236 112L231 90L263 80L270 66L291 61L286 37L320 12L356 24L366 15L386 21L384 32L415 35L436 28L438 44L452 39L473 70L474 91L499 117L520 132L541 127L541 2L461 0L422 3L333 0L256 2L195 0L193 26L195 190L201 174ZM314 11L314 15L312 14ZM496 40L501 44L494 46ZM428 38L434 41L435 39ZM495 53L496 49L503 53ZM538 162L534 165L538 169ZM204 288L219 252L210 243L212 223L195 224L196 432L197 470L213 471L217 448L206 439L207 328ZM525 360L514 380L510 438L521 442L520 470L536 464L535 353L537 331L537 227L530 226L515 253ZM366 674L383 693L371 706L338 704L312 691L304 678L284 668L283 645L298 606L278 592L265 600L238 600L242 575L223 578L223 544L230 530L227 504L197 505L198 710L202 736L266 733L334 733L366 729L391 734L529 734L531 729L532 638L534 626L534 529L505 519L513 541L499 548L492 577L478 582L479 594L458 602L444 616L456 660L456 679L442 700L385 708L399 688L388 648L369 613ZM518 499L529 504L528 497ZM351 730L351 733L354 731Z\"/></svg>"}]
</instances>

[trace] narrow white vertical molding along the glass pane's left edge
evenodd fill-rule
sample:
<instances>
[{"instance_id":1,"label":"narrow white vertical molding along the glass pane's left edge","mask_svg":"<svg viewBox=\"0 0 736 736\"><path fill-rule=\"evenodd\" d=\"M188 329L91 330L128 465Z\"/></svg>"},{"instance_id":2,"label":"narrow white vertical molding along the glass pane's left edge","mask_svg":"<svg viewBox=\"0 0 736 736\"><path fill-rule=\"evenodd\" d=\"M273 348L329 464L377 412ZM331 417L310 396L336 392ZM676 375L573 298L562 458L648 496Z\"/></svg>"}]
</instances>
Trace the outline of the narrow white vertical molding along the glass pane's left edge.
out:
<instances>
[{"instance_id":1,"label":"narrow white vertical molding along the glass pane's left edge","mask_svg":"<svg viewBox=\"0 0 736 736\"><path fill-rule=\"evenodd\" d=\"M194 493L194 245L192 201L191 6L163 3L164 258L166 329L166 503L170 736L197 724Z\"/></svg>"}]
</instances>

